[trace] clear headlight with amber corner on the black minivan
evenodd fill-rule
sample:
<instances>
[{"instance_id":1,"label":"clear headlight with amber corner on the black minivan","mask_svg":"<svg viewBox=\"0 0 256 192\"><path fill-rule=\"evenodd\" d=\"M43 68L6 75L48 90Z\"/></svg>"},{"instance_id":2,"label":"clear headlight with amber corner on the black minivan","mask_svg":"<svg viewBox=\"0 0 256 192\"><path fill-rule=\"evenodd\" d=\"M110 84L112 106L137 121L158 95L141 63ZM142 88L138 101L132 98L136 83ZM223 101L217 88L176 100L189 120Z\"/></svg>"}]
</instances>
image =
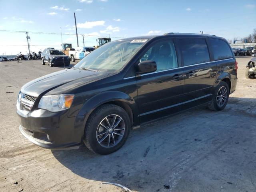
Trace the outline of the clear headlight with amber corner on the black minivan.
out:
<instances>
[{"instance_id":1,"label":"clear headlight with amber corner on the black minivan","mask_svg":"<svg viewBox=\"0 0 256 192\"><path fill-rule=\"evenodd\" d=\"M74 95L46 95L42 96L38 108L51 112L58 112L70 108Z\"/></svg>"}]
</instances>

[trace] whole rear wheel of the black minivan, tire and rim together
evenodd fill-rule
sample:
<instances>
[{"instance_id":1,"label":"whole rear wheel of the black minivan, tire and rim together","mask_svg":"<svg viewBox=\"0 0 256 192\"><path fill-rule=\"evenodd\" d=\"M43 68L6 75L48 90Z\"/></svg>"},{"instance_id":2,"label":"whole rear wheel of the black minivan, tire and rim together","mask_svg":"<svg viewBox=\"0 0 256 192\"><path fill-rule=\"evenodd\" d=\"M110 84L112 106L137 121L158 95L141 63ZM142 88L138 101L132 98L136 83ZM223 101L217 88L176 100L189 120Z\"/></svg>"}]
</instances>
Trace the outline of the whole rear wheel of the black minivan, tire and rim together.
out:
<instances>
[{"instance_id":1,"label":"whole rear wheel of the black minivan, tire and rim together","mask_svg":"<svg viewBox=\"0 0 256 192\"><path fill-rule=\"evenodd\" d=\"M213 111L223 110L229 98L229 87L224 81L221 81L216 87L212 101L208 104L208 108Z\"/></svg>"}]
</instances>

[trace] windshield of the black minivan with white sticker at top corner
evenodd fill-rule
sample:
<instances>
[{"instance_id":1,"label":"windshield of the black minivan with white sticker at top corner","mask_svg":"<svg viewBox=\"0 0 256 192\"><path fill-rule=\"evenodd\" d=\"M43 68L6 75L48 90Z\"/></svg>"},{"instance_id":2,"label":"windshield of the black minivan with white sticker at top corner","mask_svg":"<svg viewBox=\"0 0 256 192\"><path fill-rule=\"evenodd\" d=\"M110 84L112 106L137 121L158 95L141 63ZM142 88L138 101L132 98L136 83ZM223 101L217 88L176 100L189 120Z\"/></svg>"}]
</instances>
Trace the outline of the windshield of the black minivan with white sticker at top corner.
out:
<instances>
[{"instance_id":1,"label":"windshield of the black minivan with white sticker at top corner","mask_svg":"<svg viewBox=\"0 0 256 192\"><path fill-rule=\"evenodd\" d=\"M146 40L117 40L104 44L84 57L74 68L118 72Z\"/></svg>"}]
</instances>

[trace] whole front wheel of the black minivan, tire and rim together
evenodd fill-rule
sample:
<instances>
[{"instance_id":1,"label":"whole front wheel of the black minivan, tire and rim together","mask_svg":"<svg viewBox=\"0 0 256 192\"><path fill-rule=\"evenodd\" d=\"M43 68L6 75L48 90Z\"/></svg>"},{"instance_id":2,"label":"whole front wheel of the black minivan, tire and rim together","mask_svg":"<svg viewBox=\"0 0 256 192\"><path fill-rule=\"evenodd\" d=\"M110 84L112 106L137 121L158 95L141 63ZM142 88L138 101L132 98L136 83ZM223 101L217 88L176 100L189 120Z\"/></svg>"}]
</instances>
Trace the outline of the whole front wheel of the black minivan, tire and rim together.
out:
<instances>
[{"instance_id":1,"label":"whole front wheel of the black minivan, tire and rim together","mask_svg":"<svg viewBox=\"0 0 256 192\"><path fill-rule=\"evenodd\" d=\"M104 104L88 118L84 130L84 144L94 153L110 154L124 145L130 126L130 118L123 108Z\"/></svg>"}]
</instances>

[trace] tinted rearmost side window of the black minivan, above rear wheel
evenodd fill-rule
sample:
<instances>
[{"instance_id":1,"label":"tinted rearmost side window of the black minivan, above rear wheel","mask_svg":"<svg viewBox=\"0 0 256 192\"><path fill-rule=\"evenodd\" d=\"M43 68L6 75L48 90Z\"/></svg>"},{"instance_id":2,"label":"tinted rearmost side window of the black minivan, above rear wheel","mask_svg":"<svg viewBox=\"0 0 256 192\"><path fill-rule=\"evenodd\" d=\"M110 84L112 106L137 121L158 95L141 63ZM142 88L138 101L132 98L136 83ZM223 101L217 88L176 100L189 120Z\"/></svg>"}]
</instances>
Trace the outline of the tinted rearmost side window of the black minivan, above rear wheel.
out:
<instances>
[{"instance_id":1,"label":"tinted rearmost side window of the black minivan, above rear wheel","mask_svg":"<svg viewBox=\"0 0 256 192\"><path fill-rule=\"evenodd\" d=\"M209 40L212 46L214 60L233 58L233 54L225 41L212 38L209 38Z\"/></svg>"}]
</instances>

